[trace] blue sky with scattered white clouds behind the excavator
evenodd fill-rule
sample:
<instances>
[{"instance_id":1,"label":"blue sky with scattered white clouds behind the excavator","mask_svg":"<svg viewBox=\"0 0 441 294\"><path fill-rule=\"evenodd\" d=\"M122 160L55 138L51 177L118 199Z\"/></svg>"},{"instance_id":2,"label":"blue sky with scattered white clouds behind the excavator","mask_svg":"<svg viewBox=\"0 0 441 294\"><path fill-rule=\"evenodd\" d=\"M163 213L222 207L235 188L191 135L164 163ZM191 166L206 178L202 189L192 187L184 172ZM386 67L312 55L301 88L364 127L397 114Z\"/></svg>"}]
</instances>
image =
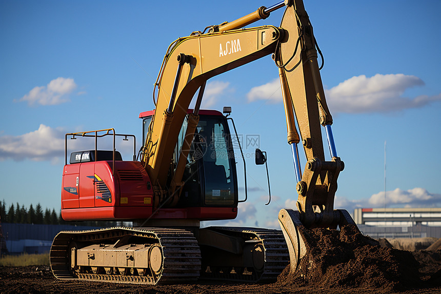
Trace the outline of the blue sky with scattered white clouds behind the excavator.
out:
<instances>
[{"instance_id":1,"label":"blue sky with scattered white clouds behind the excavator","mask_svg":"<svg viewBox=\"0 0 441 294\"><path fill-rule=\"evenodd\" d=\"M113 127L141 142L138 114L154 108L169 44L275 2L0 1L0 199L59 209L65 133ZM387 206L441 206L441 2L305 7L325 56L322 80L346 166L336 208L384 206L385 141ZM281 17L276 11L252 26L278 26ZM267 56L207 85L205 106L232 106L238 132L259 135L268 152L271 204L265 168L249 159L249 201L229 224L278 227L278 210L297 199L277 77Z\"/></svg>"}]
</instances>

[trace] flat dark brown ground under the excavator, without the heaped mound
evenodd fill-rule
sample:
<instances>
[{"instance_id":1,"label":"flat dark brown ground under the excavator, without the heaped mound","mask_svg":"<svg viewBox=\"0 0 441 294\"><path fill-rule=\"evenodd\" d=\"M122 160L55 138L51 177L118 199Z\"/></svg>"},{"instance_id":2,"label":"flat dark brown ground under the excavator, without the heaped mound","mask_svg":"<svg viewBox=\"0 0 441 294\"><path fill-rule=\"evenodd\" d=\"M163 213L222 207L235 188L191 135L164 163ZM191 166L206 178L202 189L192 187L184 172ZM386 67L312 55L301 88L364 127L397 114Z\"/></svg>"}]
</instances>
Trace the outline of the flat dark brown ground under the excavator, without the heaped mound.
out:
<instances>
[{"instance_id":1,"label":"flat dark brown ground under the excavator, without the heaped mound","mask_svg":"<svg viewBox=\"0 0 441 294\"><path fill-rule=\"evenodd\" d=\"M219 284L199 282L186 285L129 285L99 282L61 281L55 279L48 266L0 267L1 293L385 293L383 289L292 286L273 284ZM440 287L419 287L403 293L440 293Z\"/></svg>"}]
</instances>

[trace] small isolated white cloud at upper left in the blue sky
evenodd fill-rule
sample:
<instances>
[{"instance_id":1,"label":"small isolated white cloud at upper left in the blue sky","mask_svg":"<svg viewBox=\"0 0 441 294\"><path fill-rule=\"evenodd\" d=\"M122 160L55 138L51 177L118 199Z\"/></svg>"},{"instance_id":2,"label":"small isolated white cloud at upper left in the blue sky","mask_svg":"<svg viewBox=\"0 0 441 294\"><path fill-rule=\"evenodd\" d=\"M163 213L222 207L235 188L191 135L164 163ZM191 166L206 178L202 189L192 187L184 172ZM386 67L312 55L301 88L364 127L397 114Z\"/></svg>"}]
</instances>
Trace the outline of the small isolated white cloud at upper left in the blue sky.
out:
<instances>
[{"instance_id":1,"label":"small isolated white cloud at upper left in the blue sky","mask_svg":"<svg viewBox=\"0 0 441 294\"><path fill-rule=\"evenodd\" d=\"M70 101L68 94L76 88L73 79L58 77L47 86L35 87L18 101L27 101L28 105L56 105Z\"/></svg>"}]
</instances>

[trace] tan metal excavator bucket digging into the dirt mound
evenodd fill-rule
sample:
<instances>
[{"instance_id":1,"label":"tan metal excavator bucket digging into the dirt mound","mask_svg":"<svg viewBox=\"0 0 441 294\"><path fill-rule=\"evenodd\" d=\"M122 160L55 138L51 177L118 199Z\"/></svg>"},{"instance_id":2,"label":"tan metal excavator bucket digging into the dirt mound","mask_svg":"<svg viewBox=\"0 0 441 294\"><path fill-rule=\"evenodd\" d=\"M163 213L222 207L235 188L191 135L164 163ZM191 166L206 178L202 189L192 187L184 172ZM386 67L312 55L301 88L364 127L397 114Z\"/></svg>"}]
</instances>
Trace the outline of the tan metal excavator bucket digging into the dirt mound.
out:
<instances>
[{"instance_id":1,"label":"tan metal excavator bucket digging into the dirt mound","mask_svg":"<svg viewBox=\"0 0 441 294\"><path fill-rule=\"evenodd\" d=\"M335 210L340 216L338 227L354 225L354 220L347 210ZM294 273L302 258L315 246L308 234L308 229L300 221L298 210L281 209L278 214L278 222L285 237L289 251L290 273Z\"/></svg>"}]
</instances>

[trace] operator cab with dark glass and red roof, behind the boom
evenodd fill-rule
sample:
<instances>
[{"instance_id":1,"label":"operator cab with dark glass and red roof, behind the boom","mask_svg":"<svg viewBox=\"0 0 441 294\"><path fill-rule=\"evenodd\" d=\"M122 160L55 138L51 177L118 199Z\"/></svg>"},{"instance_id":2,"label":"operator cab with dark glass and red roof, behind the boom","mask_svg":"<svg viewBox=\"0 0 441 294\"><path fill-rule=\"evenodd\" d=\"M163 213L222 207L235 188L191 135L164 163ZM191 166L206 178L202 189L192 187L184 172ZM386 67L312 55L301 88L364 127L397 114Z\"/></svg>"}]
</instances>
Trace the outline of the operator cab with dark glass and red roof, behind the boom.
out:
<instances>
[{"instance_id":1,"label":"operator cab with dark glass and red roof, behind the boom","mask_svg":"<svg viewBox=\"0 0 441 294\"><path fill-rule=\"evenodd\" d=\"M190 109L188 113L191 113ZM142 112L143 142L154 110ZM187 129L187 117L174 150L174 169ZM170 172L173 174L174 170ZM178 207L237 207L237 177L234 150L226 117L215 110L199 111L197 124L182 181L185 182Z\"/></svg>"}]
</instances>

